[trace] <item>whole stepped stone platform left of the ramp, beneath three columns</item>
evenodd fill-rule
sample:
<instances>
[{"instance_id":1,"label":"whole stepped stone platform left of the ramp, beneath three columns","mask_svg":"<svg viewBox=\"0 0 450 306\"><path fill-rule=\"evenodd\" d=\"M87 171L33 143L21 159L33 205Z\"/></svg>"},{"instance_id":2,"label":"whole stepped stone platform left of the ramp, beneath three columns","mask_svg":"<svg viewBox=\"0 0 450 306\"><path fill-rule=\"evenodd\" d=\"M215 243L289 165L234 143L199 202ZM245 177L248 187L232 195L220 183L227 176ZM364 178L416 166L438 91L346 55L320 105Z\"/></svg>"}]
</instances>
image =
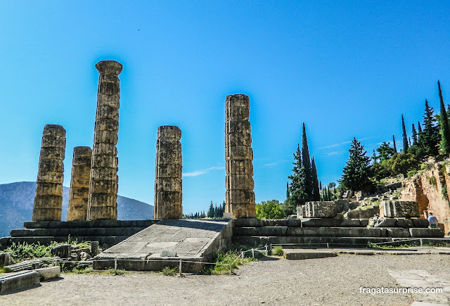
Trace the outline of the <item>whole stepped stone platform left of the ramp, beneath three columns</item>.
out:
<instances>
[{"instance_id":1,"label":"whole stepped stone platform left of the ramp, beneath three columns","mask_svg":"<svg viewBox=\"0 0 450 306\"><path fill-rule=\"evenodd\" d=\"M102 248L109 248L137 232L150 227L158 220L92 220L92 221L32 221L25 222L25 229L11 230L10 237L0 238L0 246L12 243L41 243L98 241Z\"/></svg>"}]
</instances>

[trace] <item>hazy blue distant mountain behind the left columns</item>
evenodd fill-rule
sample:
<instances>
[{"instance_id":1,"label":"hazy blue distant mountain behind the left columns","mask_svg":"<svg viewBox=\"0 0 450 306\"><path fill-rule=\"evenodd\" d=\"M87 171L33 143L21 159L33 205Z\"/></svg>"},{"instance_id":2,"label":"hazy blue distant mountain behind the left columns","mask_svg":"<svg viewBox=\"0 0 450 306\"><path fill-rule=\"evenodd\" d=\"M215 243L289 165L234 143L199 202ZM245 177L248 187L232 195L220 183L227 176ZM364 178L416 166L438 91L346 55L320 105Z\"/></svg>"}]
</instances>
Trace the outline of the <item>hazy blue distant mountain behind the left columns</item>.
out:
<instances>
[{"instance_id":1,"label":"hazy blue distant mountain behind the left columns","mask_svg":"<svg viewBox=\"0 0 450 306\"><path fill-rule=\"evenodd\" d=\"M23 222L33 215L36 182L20 181L0 184L0 237L9 236L11 229L23 228ZM68 214L69 188L63 187L63 221ZM117 196L117 219L153 219L153 205Z\"/></svg>"}]
</instances>

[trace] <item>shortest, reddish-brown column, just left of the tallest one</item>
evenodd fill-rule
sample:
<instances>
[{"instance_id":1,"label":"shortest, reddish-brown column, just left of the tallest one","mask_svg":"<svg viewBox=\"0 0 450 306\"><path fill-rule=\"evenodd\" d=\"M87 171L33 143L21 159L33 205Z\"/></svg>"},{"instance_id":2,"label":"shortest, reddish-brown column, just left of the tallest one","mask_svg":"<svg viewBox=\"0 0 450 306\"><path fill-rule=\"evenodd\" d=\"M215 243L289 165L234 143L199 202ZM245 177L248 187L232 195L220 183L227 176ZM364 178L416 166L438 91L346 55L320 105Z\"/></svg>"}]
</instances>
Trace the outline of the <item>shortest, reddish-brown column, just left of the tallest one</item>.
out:
<instances>
[{"instance_id":1,"label":"shortest, reddish-brown column, just left of the tallest one","mask_svg":"<svg viewBox=\"0 0 450 306\"><path fill-rule=\"evenodd\" d=\"M87 219L91 160L92 150L89 146L76 146L73 148L68 221Z\"/></svg>"}]
</instances>

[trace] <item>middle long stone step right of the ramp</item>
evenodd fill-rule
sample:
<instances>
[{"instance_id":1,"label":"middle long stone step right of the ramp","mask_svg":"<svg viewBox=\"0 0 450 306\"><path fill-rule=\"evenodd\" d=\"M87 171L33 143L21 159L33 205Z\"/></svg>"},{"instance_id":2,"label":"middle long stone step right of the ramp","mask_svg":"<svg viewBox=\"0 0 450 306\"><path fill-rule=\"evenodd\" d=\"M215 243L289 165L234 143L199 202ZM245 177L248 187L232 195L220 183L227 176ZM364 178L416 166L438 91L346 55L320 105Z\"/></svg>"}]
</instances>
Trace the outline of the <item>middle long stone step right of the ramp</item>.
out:
<instances>
[{"instance_id":1,"label":"middle long stone step right of the ramp","mask_svg":"<svg viewBox=\"0 0 450 306\"><path fill-rule=\"evenodd\" d=\"M233 236L326 236L442 238L441 229L403 229L385 227L235 227Z\"/></svg>"}]
</instances>

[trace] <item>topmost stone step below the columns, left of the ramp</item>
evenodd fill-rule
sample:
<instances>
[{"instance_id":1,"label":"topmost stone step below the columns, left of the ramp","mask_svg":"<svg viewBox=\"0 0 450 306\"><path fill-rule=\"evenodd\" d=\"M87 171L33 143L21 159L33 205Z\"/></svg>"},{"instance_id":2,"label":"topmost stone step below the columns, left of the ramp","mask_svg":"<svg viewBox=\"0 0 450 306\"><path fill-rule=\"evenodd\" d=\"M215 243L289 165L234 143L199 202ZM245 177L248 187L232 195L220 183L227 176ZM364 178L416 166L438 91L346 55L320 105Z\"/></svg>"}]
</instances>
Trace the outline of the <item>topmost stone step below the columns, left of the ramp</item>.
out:
<instances>
[{"instance_id":1,"label":"topmost stone step below the columns, left of the ramp","mask_svg":"<svg viewBox=\"0 0 450 306\"><path fill-rule=\"evenodd\" d=\"M141 227L145 229L159 220L91 220L91 221L27 221L25 229L73 229L104 227Z\"/></svg>"}]
</instances>

